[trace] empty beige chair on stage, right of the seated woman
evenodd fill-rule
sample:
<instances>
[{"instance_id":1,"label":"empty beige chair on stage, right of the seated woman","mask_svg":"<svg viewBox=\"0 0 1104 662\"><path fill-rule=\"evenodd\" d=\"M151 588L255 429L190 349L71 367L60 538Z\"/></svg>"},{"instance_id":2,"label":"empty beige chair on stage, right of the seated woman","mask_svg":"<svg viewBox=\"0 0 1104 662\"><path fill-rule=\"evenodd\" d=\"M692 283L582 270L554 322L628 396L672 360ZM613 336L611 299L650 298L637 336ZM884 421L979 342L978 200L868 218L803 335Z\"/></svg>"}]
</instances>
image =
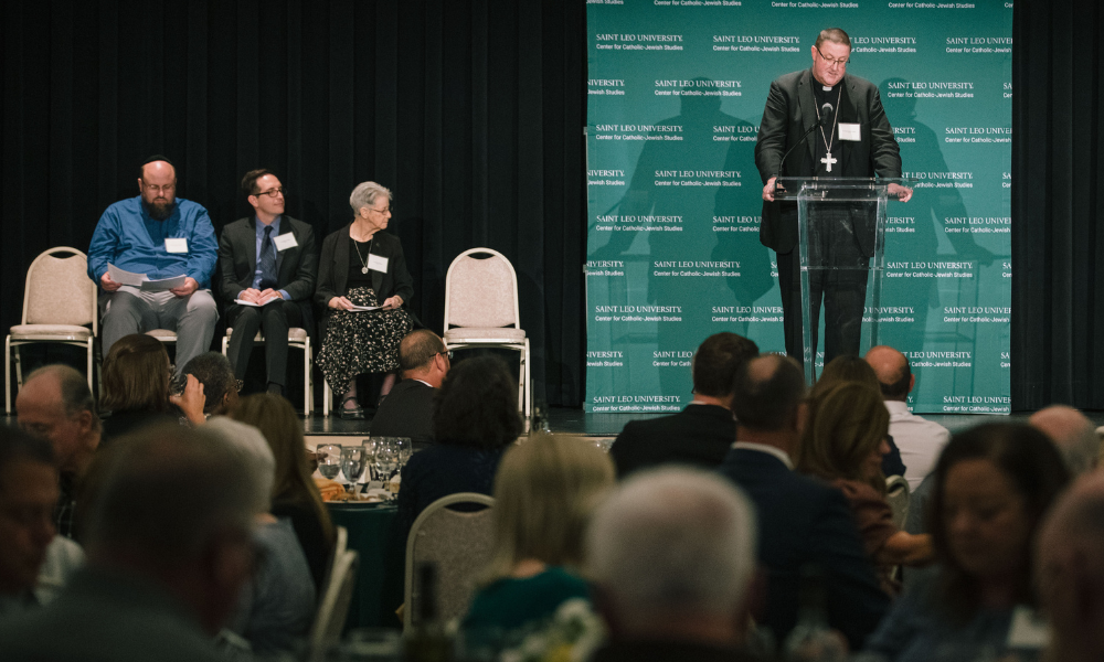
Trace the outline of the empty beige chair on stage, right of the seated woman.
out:
<instances>
[{"instance_id":1,"label":"empty beige chair on stage, right of the seated woman","mask_svg":"<svg viewBox=\"0 0 1104 662\"><path fill-rule=\"evenodd\" d=\"M475 255L487 255L478 258ZM446 350L505 348L521 354L518 408L532 413L529 339L521 328L518 274L501 253L469 248L456 256L445 276Z\"/></svg>"}]
</instances>

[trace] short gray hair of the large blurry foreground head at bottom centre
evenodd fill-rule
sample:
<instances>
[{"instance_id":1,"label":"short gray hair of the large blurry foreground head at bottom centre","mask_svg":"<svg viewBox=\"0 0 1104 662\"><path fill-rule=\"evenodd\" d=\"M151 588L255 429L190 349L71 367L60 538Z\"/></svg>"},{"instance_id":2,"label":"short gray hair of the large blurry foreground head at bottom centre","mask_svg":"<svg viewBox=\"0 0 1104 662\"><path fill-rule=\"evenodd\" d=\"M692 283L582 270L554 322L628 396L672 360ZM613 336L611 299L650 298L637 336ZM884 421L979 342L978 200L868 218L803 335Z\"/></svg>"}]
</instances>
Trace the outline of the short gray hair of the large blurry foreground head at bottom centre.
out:
<instances>
[{"instance_id":1,"label":"short gray hair of the large blurry foreground head at bottom centre","mask_svg":"<svg viewBox=\"0 0 1104 662\"><path fill-rule=\"evenodd\" d=\"M682 467L635 474L598 506L586 565L635 632L672 615L731 617L755 570L755 511L732 482Z\"/></svg>"}]
</instances>

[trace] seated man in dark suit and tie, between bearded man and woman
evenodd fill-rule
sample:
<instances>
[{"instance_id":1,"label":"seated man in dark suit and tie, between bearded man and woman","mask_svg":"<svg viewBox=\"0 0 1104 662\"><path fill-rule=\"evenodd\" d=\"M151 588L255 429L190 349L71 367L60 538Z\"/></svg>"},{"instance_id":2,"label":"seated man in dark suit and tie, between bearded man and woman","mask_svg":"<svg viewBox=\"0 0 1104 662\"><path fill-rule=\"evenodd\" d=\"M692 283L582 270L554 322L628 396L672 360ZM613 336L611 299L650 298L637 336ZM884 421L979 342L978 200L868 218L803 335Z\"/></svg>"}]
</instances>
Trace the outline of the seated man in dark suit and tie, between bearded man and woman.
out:
<instances>
[{"instance_id":1,"label":"seated man in dark suit and tie, between bearded man and woman","mask_svg":"<svg viewBox=\"0 0 1104 662\"><path fill-rule=\"evenodd\" d=\"M226 225L219 241L222 297L234 330L226 352L234 374L245 376L257 330L264 331L268 392L284 394L287 331L311 324L318 254L309 225L284 215L284 186L267 170L252 170L242 190L253 217Z\"/></svg>"}]
</instances>

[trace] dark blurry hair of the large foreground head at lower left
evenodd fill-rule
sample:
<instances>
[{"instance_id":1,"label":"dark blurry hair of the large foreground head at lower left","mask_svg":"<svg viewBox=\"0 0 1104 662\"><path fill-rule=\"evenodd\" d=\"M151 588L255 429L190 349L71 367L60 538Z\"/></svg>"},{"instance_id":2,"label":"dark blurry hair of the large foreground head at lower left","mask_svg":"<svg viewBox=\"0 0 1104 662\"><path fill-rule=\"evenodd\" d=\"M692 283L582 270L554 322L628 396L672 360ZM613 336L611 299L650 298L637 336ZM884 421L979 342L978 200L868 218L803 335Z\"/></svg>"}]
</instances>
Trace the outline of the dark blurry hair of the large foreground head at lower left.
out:
<instances>
[{"instance_id":1,"label":"dark blurry hair of the large foreground head at lower left","mask_svg":"<svg viewBox=\"0 0 1104 662\"><path fill-rule=\"evenodd\" d=\"M247 534L261 489L248 459L216 435L144 428L98 453L85 477L87 547L164 568L199 560L227 530Z\"/></svg>"}]
</instances>

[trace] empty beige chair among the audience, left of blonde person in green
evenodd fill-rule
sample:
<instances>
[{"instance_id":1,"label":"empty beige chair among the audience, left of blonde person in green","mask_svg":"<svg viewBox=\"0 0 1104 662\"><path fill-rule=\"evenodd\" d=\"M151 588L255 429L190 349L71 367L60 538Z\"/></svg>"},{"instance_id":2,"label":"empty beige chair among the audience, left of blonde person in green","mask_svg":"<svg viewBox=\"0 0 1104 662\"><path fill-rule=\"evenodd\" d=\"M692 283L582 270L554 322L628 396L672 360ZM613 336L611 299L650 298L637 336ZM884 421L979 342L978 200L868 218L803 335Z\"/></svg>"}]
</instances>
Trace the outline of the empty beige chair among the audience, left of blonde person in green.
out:
<instances>
[{"instance_id":1,"label":"empty beige chair among the audience, left of blonde person in green","mask_svg":"<svg viewBox=\"0 0 1104 662\"><path fill-rule=\"evenodd\" d=\"M459 503L481 504L475 512L450 509ZM448 622L464 616L475 592L476 578L495 551L495 500L486 494L460 492L431 503L414 520L406 538L406 588L403 630L417 626L421 587L414 586L414 568L437 566L437 615Z\"/></svg>"}]
</instances>

